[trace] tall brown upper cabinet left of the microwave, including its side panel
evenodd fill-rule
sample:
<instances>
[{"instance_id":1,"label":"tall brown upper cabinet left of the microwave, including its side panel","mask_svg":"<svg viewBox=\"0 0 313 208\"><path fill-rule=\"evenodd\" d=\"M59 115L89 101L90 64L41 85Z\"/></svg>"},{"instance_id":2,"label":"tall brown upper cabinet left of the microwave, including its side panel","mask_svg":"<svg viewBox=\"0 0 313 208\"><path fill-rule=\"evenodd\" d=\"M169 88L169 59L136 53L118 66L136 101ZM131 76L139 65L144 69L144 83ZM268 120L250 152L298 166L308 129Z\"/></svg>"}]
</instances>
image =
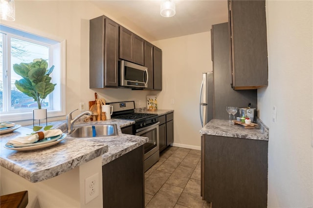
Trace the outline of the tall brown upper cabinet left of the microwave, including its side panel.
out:
<instances>
[{"instance_id":1,"label":"tall brown upper cabinet left of the microwave, including its side panel","mask_svg":"<svg viewBox=\"0 0 313 208\"><path fill-rule=\"evenodd\" d=\"M89 88L117 87L119 25L105 16L89 23Z\"/></svg>"}]
</instances>

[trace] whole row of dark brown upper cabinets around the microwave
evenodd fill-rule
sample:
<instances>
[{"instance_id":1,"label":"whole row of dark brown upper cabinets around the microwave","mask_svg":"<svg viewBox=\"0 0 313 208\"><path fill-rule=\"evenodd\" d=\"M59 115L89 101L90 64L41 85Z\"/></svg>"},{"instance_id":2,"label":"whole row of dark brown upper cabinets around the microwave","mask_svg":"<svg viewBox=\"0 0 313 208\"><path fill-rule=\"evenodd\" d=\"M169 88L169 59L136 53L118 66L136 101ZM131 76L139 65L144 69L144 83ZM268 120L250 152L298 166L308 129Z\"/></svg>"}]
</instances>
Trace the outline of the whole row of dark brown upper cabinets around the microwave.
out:
<instances>
[{"instance_id":1,"label":"whole row of dark brown upper cabinets around the microwave","mask_svg":"<svg viewBox=\"0 0 313 208\"><path fill-rule=\"evenodd\" d=\"M162 90L162 50L101 16L89 21L89 88L118 87L118 61L148 67L148 90Z\"/></svg>"}]
</instances>

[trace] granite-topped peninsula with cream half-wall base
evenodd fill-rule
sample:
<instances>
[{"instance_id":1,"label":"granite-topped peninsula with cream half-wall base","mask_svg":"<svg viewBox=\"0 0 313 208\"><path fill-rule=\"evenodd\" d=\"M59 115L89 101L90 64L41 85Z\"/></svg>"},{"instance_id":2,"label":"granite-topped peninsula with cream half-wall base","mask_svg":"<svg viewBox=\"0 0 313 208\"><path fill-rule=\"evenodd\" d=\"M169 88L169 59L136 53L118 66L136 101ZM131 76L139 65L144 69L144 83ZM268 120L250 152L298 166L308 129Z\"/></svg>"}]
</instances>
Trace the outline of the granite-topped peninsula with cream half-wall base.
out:
<instances>
[{"instance_id":1,"label":"granite-topped peninsula with cream half-wall base","mask_svg":"<svg viewBox=\"0 0 313 208\"><path fill-rule=\"evenodd\" d=\"M29 207L102 207L102 168L142 147L147 138L121 133L120 128L131 125L131 121L111 119L92 124L116 124L118 136L67 136L51 147L15 151L4 148L6 142L32 130L21 127L13 133L1 135L1 195L28 190ZM59 128L64 129L64 124ZM85 179L96 173L99 173L99 196L85 203Z\"/></svg>"}]
</instances>

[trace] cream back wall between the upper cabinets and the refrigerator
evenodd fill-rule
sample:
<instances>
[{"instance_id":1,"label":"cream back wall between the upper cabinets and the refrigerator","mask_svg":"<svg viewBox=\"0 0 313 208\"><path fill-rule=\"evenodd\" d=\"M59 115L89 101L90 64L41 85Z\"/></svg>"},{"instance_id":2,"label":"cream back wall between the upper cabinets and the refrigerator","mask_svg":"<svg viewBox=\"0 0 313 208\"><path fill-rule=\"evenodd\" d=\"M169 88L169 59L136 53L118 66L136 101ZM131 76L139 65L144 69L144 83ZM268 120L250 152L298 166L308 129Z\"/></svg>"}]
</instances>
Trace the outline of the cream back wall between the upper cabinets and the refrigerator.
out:
<instances>
[{"instance_id":1,"label":"cream back wall between the upper cabinets and the refrigerator","mask_svg":"<svg viewBox=\"0 0 313 208\"><path fill-rule=\"evenodd\" d=\"M174 109L174 145L200 149L202 72L212 71L210 32L153 42L162 48L163 86L158 107ZM172 104L174 99L174 104Z\"/></svg>"}]
</instances>

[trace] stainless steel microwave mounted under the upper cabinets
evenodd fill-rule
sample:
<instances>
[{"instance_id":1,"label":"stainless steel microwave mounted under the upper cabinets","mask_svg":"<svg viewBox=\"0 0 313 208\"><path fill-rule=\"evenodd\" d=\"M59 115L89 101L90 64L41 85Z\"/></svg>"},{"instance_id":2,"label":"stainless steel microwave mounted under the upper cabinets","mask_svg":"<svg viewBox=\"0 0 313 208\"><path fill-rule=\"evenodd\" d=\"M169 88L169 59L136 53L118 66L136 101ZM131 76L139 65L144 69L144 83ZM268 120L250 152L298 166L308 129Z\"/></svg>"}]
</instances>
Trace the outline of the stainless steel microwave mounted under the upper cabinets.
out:
<instances>
[{"instance_id":1,"label":"stainless steel microwave mounted under the upper cabinets","mask_svg":"<svg viewBox=\"0 0 313 208\"><path fill-rule=\"evenodd\" d=\"M148 86L148 68L145 66L121 60L119 72L120 86L142 88Z\"/></svg>"}]
</instances>

